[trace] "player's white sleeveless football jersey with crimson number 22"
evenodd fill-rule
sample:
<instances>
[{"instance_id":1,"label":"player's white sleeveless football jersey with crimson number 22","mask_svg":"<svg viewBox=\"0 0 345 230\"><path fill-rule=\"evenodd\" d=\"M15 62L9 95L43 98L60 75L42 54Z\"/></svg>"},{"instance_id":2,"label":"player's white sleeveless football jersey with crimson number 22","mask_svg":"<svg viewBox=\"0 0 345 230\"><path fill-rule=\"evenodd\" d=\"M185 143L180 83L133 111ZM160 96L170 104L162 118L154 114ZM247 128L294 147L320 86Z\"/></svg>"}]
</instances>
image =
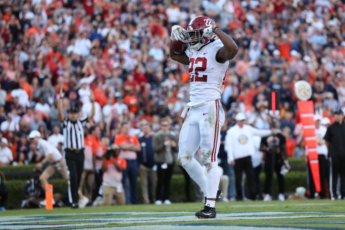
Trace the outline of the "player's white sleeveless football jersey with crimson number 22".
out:
<instances>
[{"instance_id":1,"label":"player's white sleeveless football jersey with crimson number 22","mask_svg":"<svg viewBox=\"0 0 345 230\"><path fill-rule=\"evenodd\" d=\"M190 101L213 101L221 98L224 90L225 72L229 61L218 63L216 53L224 45L220 39L201 48L199 51L186 51L189 57Z\"/></svg>"}]
</instances>

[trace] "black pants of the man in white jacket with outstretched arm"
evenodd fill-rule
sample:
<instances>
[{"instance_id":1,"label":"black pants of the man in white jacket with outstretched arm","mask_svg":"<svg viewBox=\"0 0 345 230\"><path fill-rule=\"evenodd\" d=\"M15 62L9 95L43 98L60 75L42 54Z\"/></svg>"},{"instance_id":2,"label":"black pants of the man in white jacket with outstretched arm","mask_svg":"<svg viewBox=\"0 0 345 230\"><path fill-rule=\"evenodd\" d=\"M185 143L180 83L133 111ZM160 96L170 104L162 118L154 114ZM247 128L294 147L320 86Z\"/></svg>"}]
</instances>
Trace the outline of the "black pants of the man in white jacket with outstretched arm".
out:
<instances>
[{"instance_id":1,"label":"black pants of the man in white jacket with outstretched arm","mask_svg":"<svg viewBox=\"0 0 345 230\"><path fill-rule=\"evenodd\" d=\"M244 157L235 160L235 177L236 177L236 193L237 200L243 200L242 196L242 173L246 173L247 184L249 188L249 199L255 199L255 180L254 180L254 169L252 165L252 157Z\"/></svg>"}]
</instances>

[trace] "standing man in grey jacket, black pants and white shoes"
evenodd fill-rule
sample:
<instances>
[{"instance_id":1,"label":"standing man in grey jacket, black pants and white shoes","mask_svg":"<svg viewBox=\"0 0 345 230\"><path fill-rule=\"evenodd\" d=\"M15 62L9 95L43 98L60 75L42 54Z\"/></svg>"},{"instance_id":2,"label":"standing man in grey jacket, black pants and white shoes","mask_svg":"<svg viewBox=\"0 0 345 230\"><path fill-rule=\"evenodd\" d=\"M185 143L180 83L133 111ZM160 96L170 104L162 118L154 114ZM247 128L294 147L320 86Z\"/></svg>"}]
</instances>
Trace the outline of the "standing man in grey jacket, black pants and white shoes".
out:
<instances>
[{"instance_id":1,"label":"standing man in grey jacket, black pants and white shoes","mask_svg":"<svg viewBox=\"0 0 345 230\"><path fill-rule=\"evenodd\" d=\"M178 152L178 142L170 133L170 124L167 118L160 120L161 131L157 133L152 142L157 164L157 190L155 204L171 204L169 200L170 181L175 165L175 152ZM162 192L162 189L164 192Z\"/></svg>"}]
</instances>

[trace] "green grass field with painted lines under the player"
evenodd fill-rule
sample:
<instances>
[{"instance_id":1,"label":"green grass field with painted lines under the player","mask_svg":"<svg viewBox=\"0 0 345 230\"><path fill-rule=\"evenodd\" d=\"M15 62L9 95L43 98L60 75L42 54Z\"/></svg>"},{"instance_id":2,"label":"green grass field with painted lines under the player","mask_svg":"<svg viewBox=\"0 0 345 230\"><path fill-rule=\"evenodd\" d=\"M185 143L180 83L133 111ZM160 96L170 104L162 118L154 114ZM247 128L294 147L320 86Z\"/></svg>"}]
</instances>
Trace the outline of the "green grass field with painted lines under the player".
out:
<instances>
[{"instance_id":1,"label":"green grass field with painted lines under the player","mask_svg":"<svg viewBox=\"0 0 345 230\"><path fill-rule=\"evenodd\" d=\"M13 229L16 229L15 225L23 224L26 226L25 229L31 229L35 227L35 224L37 225L37 221L41 225L41 229L98 229L102 227L111 229L119 226L134 227L151 224L160 225L159 228L161 225L174 226L177 224L181 225L182 229L182 226L195 226L195 229L200 229L208 224L219 228L247 226L345 229L344 200L219 202L216 204L216 219L201 221L194 219L194 212L201 210L203 205L203 203L174 203L160 206L141 204L86 207L84 209L9 210L0 212L0 220L1 224L13 223ZM28 222L25 223L25 221ZM60 223L64 224L58 225ZM47 225L47 228L42 226L44 224ZM152 226L153 228L154 226Z\"/></svg>"}]
</instances>

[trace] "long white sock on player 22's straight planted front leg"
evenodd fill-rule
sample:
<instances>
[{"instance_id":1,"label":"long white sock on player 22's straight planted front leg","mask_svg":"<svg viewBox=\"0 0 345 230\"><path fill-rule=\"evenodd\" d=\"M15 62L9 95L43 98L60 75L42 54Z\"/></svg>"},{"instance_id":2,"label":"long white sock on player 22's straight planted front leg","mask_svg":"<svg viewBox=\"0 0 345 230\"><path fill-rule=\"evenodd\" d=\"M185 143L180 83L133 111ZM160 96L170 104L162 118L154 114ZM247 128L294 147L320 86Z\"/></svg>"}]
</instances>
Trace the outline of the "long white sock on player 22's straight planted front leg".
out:
<instances>
[{"instance_id":1,"label":"long white sock on player 22's straight planted front leg","mask_svg":"<svg viewBox=\"0 0 345 230\"><path fill-rule=\"evenodd\" d=\"M206 167L207 198L216 198L219 181L218 162L209 163Z\"/></svg>"}]
</instances>

